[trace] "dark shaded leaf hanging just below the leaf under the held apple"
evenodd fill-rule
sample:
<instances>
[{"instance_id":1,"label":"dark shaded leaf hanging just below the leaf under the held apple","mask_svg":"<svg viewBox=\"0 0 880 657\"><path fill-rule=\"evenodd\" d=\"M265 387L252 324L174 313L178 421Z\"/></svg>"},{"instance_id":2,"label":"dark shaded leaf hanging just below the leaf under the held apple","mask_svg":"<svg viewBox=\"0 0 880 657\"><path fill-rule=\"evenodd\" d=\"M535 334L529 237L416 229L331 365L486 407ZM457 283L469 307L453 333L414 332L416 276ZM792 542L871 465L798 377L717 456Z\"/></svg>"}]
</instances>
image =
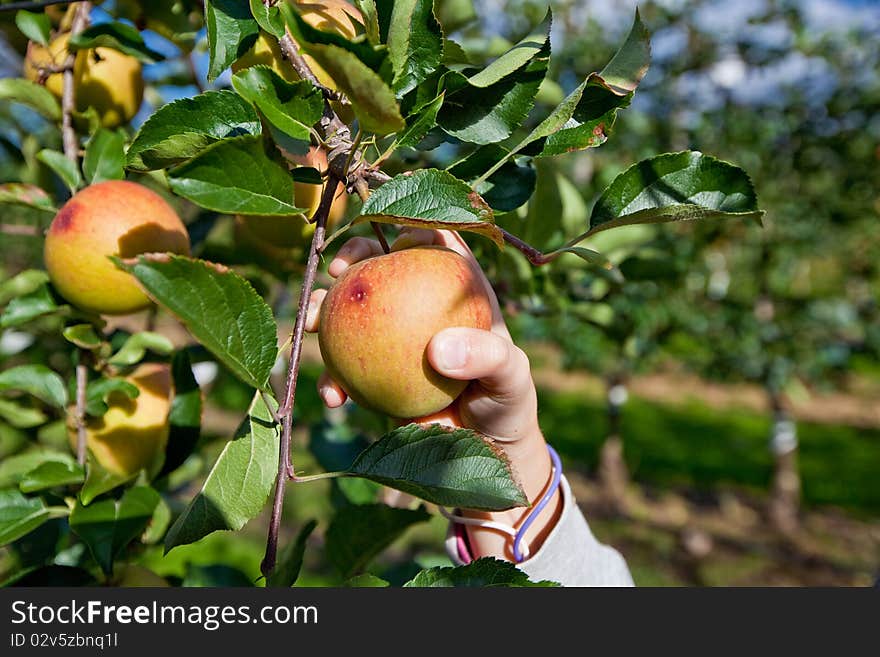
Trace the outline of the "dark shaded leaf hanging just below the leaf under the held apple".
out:
<instances>
[{"instance_id":1,"label":"dark shaded leaf hanging just below the leaf under the held apple","mask_svg":"<svg viewBox=\"0 0 880 657\"><path fill-rule=\"evenodd\" d=\"M412 525L430 520L424 507L396 509L385 504L342 507L336 512L325 537L327 559L343 579L366 568L382 550Z\"/></svg>"}]
</instances>

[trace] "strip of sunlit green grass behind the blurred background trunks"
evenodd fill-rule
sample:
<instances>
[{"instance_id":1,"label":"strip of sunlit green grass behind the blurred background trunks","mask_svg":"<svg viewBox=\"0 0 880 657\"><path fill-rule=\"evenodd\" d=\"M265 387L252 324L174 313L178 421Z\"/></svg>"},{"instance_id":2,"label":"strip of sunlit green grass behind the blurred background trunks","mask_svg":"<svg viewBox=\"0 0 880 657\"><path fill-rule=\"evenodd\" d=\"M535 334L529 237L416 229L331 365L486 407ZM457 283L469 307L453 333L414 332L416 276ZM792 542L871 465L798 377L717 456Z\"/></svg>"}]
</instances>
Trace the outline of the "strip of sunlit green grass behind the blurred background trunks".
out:
<instances>
[{"instance_id":1,"label":"strip of sunlit green grass behind the blurred background trunks","mask_svg":"<svg viewBox=\"0 0 880 657\"><path fill-rule=\"evenodd\" d=\"M570 465L594 471L607 431L604 406L576 393L539 397L548 442ZM630 472L642 483L766 492L772 478L770 419L751 411L634 398L624 407L622 432ZM880 431L802 422L798 434L805 504L880 515Z\"/></svg>"}]
</instances>

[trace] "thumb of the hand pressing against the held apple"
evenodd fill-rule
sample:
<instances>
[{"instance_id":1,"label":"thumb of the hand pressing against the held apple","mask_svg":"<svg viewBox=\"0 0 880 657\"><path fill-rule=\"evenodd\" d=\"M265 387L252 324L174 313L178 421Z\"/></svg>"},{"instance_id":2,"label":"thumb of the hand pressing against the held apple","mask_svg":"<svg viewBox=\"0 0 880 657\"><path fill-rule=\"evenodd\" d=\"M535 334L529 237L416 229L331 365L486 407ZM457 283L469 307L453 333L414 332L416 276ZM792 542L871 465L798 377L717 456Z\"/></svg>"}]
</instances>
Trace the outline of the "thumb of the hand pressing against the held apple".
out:
<instances>
[{"instance_id":1,"label":"thumb of the hand pressing against the held apple","mask_svg":"<svg viewBox=\"0 0 880 657\"><path fill-rule=\"evenodd\" d=\"M495 399L514 399L533 388L529 360L509 339L491 331L450 328L428 343L428 362L457 380L478 380Z\"/></svg>"}]
</instances>

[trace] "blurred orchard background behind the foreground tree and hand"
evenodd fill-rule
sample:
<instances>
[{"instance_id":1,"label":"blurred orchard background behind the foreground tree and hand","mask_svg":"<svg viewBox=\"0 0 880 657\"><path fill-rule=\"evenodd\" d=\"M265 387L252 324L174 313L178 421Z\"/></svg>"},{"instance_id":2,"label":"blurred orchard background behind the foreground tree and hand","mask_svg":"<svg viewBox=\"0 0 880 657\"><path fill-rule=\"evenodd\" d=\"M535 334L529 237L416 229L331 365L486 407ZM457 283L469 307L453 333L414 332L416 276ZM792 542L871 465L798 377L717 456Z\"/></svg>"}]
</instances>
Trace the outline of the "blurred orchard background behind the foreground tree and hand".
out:
<instances>
[{"instance_id":1,"label":"blurred orchard background behind the foreground tree and hand","mask_svg":"<svg viewBox=\"0 0 880 657\"><path fill-rule=\"evenodd\" d=\"M205 85L199 3L157 6L164 4L183 10L186 29L173 40L144 33L168 59L145 67L148 88L135 128L155 107ZM548 77L561 84L542 87L545 107L608 60L636 3L550 5L559 70ZM546 6L436 2L444 25L454 28L447 36L475 60L505 52L540 22ZM562 455L594 532L623 552L637 584L872 585L880 576L880 4L656 0L638 6L653 57L632 107L621 112L603 148L545 158L524 173L535 177L523 185L536 184L537 196L500 221L539 247L558 244L561 234L580 232L595 196L630 163L690 148L750 174L766 210L764 225L636 226L599 235L590 246L620 266L626 276L620 288L576 263L532 269L518 253L469 237L531 356L543 430ZM102 12L124 19L126 2L107 0L93 20ZM13 16L0 15L0 76L20 75L24 46ZM480 36L486 33L497 36ZM227 74L213 86L228 84ZM60 189L35 158L57 135L27 108L0 100L0 183ZM458 153L457 144L438 140L430 163L445 166ZM394 166L428 164L412 151L399 154ZM240 270L289 327L304 258L244 258L230 217L175 202L195 255L261 263ZM21 227L42 222L45 228L51 217L12 206L0 212L4 280L41 266L39 233ZM143 321L118 320L120 328L131 322L138 329ZM155 321L176 344L190 340L170 318ZM36 351L50 364L65 353L34 340L26 327L0 328L0 366L16 364L26 349L31 362ZM325 413L314 386L317 346L310 339L306 349L299 416L325 430L312 432L309 444L307 430L299 429L297 464L316 471L357 453L365 437L352 427L372 423L379 433L382 425L358 410ZM200 451L183 468L191 480L181 475L181 485L196 489L251 390L207 352L192 356L200 361L196 373L208 405ZM278 372L283 376L283 367ZM28 432L14 424L0 413L0 480L2 459ZM59 431L47 427L41 429L47 435ZM315 486L324 492L332 486L332 494L297 491L295 504L288 496L285 539L317 518L309 540L320 548L333 505L375 490L360 481ZM189 584L252 582L265 521L165 557L160 546L147 548L140 559ZM0 550L0 580L21 565L16 560L39 558L44 531L51 523L14 554ZM410 530L373 571L396 583L419 567L448 563L444 532L439 516ZM301 584L329 581L319 555L320 549L307 552Z\"/></svg>"}]
</instances>

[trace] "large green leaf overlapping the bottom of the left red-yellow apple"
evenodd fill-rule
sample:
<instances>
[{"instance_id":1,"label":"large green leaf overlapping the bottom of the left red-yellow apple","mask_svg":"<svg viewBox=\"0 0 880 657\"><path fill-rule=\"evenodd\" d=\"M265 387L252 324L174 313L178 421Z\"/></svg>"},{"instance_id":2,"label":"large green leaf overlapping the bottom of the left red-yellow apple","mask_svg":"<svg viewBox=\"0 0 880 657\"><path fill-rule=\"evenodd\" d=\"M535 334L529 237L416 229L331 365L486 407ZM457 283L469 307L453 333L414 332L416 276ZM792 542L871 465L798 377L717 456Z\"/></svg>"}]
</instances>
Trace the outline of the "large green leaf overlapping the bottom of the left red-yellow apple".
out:
<instances>
[{"instance_id":1,"label":"large green leaf overlapping the bottom of the left red-yellow apple","mask_svg":"<svg viewBox=\"0 0 880 657\"><path fill-rule=\"evenodd\" d=\"M272 310L251 284L221 265L183 256L142 255L117 266L239 379L265 388L278 337Z\"/></svg>"}]
</instances>

